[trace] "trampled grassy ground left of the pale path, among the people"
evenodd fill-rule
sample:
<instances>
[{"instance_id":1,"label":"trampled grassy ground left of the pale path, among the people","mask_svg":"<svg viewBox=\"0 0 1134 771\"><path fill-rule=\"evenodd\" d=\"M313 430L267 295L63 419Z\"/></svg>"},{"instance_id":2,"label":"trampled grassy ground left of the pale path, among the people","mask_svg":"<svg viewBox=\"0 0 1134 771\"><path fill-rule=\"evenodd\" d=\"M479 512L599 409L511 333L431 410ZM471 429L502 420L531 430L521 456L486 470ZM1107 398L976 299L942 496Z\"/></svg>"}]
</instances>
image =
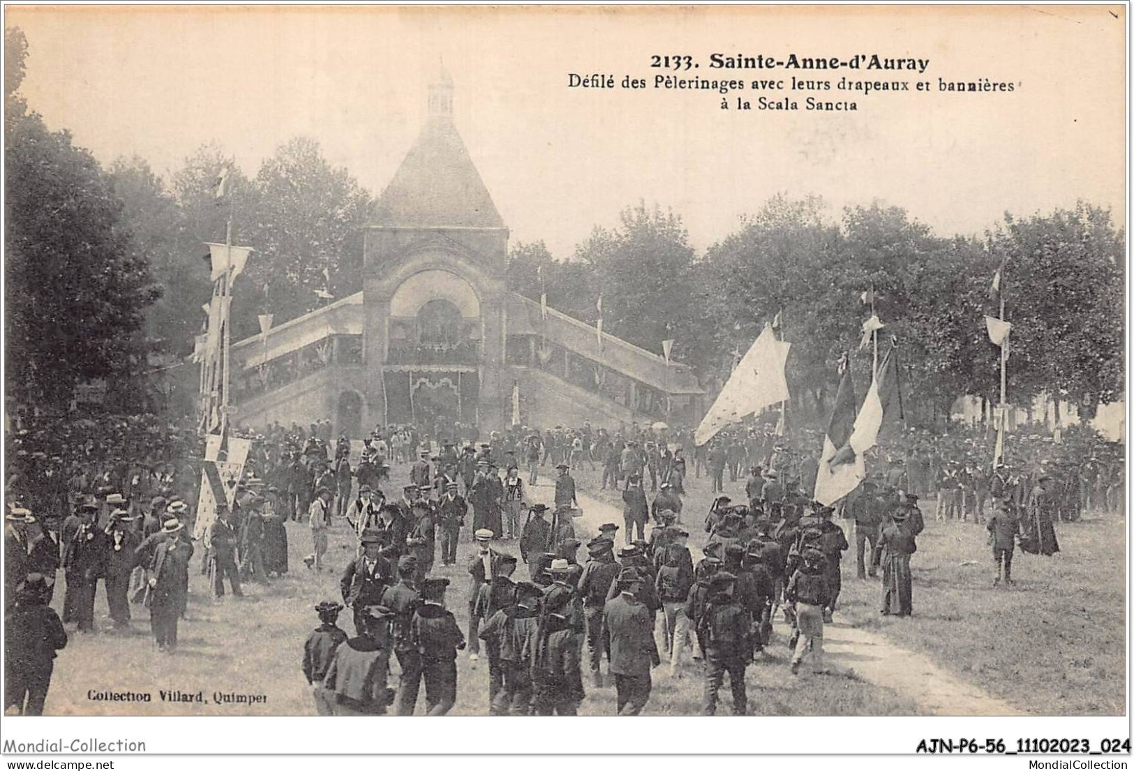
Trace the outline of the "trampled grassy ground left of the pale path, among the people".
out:
<instances>
[{"instance_id":1,"label":"trampled grassy ground left of the pale path, among the people","mask_svg":"<svg viewBox=\"0 0 1134 771\"><path fill-rule=\"evenodd\" d=\"M406 468L396 468L393 478L400 483ZM581 480L590 486L584 477ZM291 573L269 586L251 585L243 600L228 598L221 604L209 599L205 578L200 575L197 558L191 575L188 620L180 625L180 646L172 655L158 653L149 634L149 613L134 605L134 629L130 634L108 630L105 598L100 587L95 604L99 626L94 635L79 635L68 629L70 642L60 652L56 673L48 694L48 714L120 715L120 714L314 714L306 681L299 670L304 639L315 626L313 605L321 600L338 599L338 576L354 553L353 537L340 523L332 531L328 565L323 573L304 567L302 557L310 551L310 534L298 524L288 525ZM503 549L513 544L503 542ZM459 565L466 561L472 547L462 543L458 567L438 568L434 575L452 581L448 605L462 628L466 624L467 575ZM519 570L524 574L524 568ZM521 576L525 577L525 576ZM54 598L57 610L62 603L62 583ZM70 627L70 625L68 625ZM348 615L340 619L348 633ZM748 712L773 715L889 715L916 714L909 698L863 683L853 676L801 675L793 677L787 669L787 649L782 639L770 647L767 661L748 668ZM646 714L687 715L701 710L702 684L699 670L687 662L680 678L667 677L655 670L654 689ZM201 692L205 703L170 703L160 700L159 689ZM99 701L101 692L149 694L147 703ZM214 702L215 693L253 694L266 701L255 704ZM422 712L424 692L418 702ZM723 689L720 714L729 714L731 697ZM488 713L486 662L458 659L458 697L452 714ZM581 714L615 713L613 688L594 689L587 684L587 697Z\"/></svg>"}]
</instances>

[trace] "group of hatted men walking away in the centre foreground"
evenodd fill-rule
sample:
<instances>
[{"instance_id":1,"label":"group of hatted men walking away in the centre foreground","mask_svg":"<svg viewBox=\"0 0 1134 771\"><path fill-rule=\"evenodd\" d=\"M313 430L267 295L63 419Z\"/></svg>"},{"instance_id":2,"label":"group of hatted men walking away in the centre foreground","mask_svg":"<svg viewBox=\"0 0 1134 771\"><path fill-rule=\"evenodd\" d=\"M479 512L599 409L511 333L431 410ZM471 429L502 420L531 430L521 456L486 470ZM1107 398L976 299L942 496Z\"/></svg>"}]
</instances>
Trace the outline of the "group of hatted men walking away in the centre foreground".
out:
<instances>
[{"instance_id":1,"label":"group of hatted men walking away in the centre foreground","mask_svg":"<svg viewBox=\"0 0 1134 771\"><path fill-rule=\"evenodd\" d=\"M574 497L565 477L561 464L557 503L570 500L567 488ZM628 489L640 481L631 478ZM348 512L361 553L342 574L342 602L316 607L321 624L304 647L303 671L320 714L409 715L422 684L426 714L446 714L457 698L457 652L467 647L476 661L482 646L490 714L576 714L584 679L593 688L612 680L617 713L638 714L650 698L651 670L665 656L670 676L682 677L687 654L702 662L703 713L716 713L728 673L733 710L744 714L745 670L769 643L778 608L794 628L792 672L809 655L813 669L823 671L823 622L835 611L848 548L831 522L831 507L761 498L731 506L720 497L705 519L709 542L696 565L688 531L678 511L666 507L654 509L648 540L627 537L619 547L619 526L602 525L585 544L582 562L583 544L569 522L570 529L552 537L548 527L535 528L548 551L525 549L522 537L519 558L493 543L493 531L477 528L463 630L445 607L450 581L429 576L431 562L423 564L414 550L413 533L446 499L457 511L467 510L457 485L446 488L445 499L430 502L417 486L407 486L404 501L376 507L378 519L359 519L357 506ZM399 526L403 508L411 518ZM530 507L528 525L543 523L547 510ZM912 610L909 556L923 527L915 495L887 510L871 559L872 574L883 569L883 612ZM515 579L521 559L528 581ZM345 608L354 617L356 634L349 638L336 622ZM389 676L391 658L398 662L396 681Z\"/></svg>"}]
</instances>

